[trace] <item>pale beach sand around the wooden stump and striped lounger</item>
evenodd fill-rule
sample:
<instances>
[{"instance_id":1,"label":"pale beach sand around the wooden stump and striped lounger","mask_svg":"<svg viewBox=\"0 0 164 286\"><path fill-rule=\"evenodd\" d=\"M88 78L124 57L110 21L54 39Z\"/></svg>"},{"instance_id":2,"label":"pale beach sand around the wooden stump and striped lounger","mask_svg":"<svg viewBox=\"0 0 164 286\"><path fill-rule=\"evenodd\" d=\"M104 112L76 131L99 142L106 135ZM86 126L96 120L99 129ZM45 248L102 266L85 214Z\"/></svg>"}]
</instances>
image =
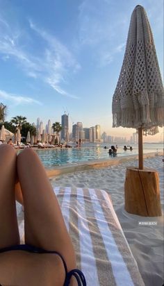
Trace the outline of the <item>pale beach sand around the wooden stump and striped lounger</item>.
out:
<instances>
[{"instance_id":1,"label":"pale beach sand around the wooden stump and striped lounger","mask_svg":"<svg viewBox=\"0 0 164 286\"><path fill-rule=\"evenodd\" d=\"M163 161L162 156L144 160L147 168L158 171L160 178L161 205L163 209ZM138 167L138 160L119 165L77 171L51 178L53 187L93 187L105 190L111 196L115 212L129 243L142 279L146 286L163 285L163 217L140 217L124 210L124 180L126 167ZM149 222L141 226L139 222Z\"/></svg>"}]
</instances>

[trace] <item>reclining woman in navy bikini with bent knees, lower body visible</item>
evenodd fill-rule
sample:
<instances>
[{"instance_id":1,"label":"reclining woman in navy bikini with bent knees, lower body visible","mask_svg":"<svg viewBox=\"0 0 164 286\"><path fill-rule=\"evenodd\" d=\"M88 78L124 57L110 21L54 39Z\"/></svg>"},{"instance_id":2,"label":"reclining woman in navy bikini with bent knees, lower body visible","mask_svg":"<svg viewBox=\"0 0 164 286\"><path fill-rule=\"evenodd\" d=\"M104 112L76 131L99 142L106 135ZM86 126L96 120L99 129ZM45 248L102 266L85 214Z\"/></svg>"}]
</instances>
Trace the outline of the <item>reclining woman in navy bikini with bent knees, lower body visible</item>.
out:
<instances>
[{"instance_id":1,"label":"reclining woman in navy bikini with bent knees, lower body visible","mask_svg":"<svg viewBox=\"0 0 164 286\"><path fill-rule=\"evenodd\" d=\"M35 151L17 155L12 146L1 144L0 174L0 285L86 285ZM15 198L24 205L25 244L20 244Z\"/></svg>"}]
</instances>

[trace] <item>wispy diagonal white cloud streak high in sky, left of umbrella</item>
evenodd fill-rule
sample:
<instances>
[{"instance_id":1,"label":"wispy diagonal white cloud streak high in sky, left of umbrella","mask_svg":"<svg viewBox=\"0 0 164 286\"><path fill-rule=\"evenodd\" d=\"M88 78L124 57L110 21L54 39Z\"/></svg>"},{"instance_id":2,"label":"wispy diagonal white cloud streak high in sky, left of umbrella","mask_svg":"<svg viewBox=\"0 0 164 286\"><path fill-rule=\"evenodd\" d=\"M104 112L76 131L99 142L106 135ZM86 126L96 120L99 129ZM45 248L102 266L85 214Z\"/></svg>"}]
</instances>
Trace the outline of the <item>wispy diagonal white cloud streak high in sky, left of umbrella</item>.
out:
<instances>
[{"instance_id":1,"label":"wispy diagonal white cloud streak high in sky, left of umbrella","mask_svg":"<svg viewBox=\"0 0 164 286\"><path fill-rule=\"evenodd\" d=\"M64 96L69 96L73 99L78 99L77 96L73 96L63 90L60 85L67 82L67 75L69 72L77 72L81 67L78 62L72 56L72 53L65 47L60 41L44 31L38 28L31 20L29 20L30 26L44 39L47 44L47 49L45 50L45 62L44 69L47 70L47 75L44 77L44 81L49 83L51 87L56 90L59 94Z\"/></svg>"}]
</instances>

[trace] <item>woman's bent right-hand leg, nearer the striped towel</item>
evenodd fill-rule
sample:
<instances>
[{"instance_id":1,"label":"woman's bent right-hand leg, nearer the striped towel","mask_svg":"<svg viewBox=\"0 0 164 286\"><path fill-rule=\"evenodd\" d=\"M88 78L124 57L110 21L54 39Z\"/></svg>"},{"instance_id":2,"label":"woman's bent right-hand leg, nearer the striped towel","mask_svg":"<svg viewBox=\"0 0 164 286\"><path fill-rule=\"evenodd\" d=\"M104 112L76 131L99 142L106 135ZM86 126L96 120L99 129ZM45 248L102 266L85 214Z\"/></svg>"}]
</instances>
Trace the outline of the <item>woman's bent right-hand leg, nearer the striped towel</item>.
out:
<instances>
[{"instance_id":1,"label":"woman's bent right-hand leg, nearer the striped towel","mask_svg":"<svg viewBox=\"0 0 164 286\"><path fill-rule=\"evenodd\" d=\"M32 149L25 149L17 156L17 174L24 199L26 244L58 251L68 270L73 269L76 266L74 249L58 200Z\"/></svg>"}]
</instances>

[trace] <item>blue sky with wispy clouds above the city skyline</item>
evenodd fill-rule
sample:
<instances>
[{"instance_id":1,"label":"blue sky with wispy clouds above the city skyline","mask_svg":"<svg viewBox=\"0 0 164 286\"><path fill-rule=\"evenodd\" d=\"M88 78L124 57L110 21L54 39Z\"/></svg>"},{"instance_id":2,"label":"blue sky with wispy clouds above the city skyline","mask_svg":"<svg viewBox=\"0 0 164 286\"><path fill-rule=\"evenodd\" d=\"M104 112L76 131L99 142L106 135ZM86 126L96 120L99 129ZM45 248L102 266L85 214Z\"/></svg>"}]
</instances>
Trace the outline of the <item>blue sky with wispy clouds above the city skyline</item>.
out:
<instances>
[{"instance_id":1,"label":"blue sky with wispy clouds above the city skyline","mask_svg":"<svg viewBox=\"0 0 164 286\"><path fill-rule=\"evenodd\" d=\"M163 0L0 0L6 119L40 117L46 124L66 111L70 129L82 121L108 135L131 135L133 129L112 128L111 103L138 4L147 11L163 76Z\"/></svg>"}]
</instances>

